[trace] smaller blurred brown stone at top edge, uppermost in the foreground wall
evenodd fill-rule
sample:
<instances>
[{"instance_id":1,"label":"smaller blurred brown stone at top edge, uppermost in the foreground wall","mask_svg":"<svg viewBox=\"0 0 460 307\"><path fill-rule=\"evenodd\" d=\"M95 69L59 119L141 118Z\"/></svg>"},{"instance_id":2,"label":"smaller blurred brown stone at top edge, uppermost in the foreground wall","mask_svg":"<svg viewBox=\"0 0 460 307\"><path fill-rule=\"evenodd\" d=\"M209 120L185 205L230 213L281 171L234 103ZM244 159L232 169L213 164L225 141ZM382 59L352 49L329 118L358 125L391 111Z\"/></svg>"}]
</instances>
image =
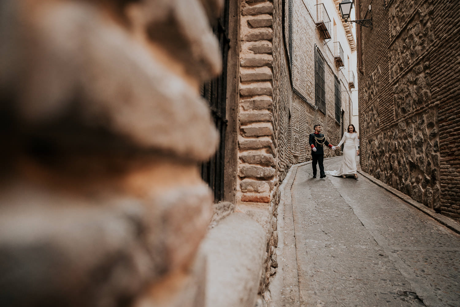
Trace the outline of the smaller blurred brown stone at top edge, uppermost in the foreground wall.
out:
<instances>
[{"instance_id":1,"label":"smaller blurred brown stone at top edge, uppermost in the foreground wall","mask_svg":"<svg viewBox=\"0 0 460 307\"><path fill-rule=\"evenodd\" d=\"M219 42L209 27L207 14L219 14L220 0L147 0L132 6L138 10L135 16L142 16L133 21L137 25L134 29L147 32L149 40L164 49L167 56L180 61L188 74L202 80L219 74Z\"/></svg>"}]
</instances>

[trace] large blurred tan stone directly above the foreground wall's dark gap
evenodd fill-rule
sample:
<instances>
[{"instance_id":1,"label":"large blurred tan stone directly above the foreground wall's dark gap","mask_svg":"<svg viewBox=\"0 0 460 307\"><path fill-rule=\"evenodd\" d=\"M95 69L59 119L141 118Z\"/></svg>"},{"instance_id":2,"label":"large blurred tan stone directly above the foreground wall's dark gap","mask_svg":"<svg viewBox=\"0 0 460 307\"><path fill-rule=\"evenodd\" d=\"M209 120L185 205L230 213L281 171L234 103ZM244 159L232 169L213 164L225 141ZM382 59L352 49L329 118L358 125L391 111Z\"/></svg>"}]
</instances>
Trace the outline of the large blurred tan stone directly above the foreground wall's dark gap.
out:
<instances>
[{"instance_id":1,"label":"large blurred tan stone directly above the foreground wall's dark gap","mask_svg":"<svg viewBox=\"0 0 460 307\"><path fill-rule=\"evenodd\" d=\"M11 93L17 100L9 100L16 104L11 110L17 110L24 138L33 134L81 151L113 153L124 147L207 160L218 144L207 102L152 56L145 43L98 9L81 1L57 1L40 9L33 22L17 25L29 33L18 35L18 44L35 46L15 52L28 69L13 73L23 82L11 87L18 91ZM190 54L187 61L195 62Z\"/></svg>"}]
</instances>

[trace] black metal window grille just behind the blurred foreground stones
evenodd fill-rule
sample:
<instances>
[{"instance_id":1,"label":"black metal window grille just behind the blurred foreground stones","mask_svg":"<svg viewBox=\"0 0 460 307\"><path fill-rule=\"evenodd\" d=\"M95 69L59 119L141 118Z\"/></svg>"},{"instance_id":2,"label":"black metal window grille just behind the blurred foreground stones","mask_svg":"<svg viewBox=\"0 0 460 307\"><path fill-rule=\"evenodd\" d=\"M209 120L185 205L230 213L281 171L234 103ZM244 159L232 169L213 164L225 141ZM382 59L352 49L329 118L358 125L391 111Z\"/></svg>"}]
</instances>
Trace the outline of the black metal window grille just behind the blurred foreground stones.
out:
<instances>
[{"instance_id":1,"label":"black metal window grille just behind the blurred foreground stones","mask_svg":"<svg viewBox=\"0 0 460 307\"><path fill-rule=\"evenodd\" d=\"M222 74L202 85L201 95L209 102L214 123L219 131L220 141L216 154L201 165L201 177L214 192L214 201L224 199L224 152L225 132L227 129L226 97L227 97L227 56L229 51L229 0L224 1L224 12L214 27L214 34L219 39L220 51L222 52Z\"/></svg>"}]
</instances>

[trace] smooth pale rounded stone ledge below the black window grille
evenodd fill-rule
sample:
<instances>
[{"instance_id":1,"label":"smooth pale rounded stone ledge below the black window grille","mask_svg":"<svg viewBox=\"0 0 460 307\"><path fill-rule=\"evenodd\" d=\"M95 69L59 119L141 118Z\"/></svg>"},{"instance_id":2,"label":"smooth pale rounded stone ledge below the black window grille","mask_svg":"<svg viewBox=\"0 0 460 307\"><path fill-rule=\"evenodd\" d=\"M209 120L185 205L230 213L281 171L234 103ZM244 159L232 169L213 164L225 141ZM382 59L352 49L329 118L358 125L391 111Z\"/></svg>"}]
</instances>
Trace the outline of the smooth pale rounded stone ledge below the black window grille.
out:
<instances>
[{"instance_id":1,"label":"smooth pale rounded stone ledge below the black window grille","mask_svg":"<svg viewBox=\"0 0 460 307\"><path fill-rule=\"evenodd\" d=\"M201 245L208 255L205 306L255 305L266 240L265 230L243 213L231 214L208 232Z\"/></svg>"}]
</instances>

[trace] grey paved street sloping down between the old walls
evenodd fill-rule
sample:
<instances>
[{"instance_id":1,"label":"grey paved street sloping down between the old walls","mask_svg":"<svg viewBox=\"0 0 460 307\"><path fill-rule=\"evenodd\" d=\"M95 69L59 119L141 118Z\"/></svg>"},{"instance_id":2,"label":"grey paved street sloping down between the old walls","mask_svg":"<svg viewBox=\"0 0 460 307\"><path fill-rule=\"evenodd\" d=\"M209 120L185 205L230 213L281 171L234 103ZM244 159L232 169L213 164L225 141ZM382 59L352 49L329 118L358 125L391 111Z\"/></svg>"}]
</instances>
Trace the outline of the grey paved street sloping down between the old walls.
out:
<instances>
[{"instance_id":1,"label":"grey paved street sloping down between the old walls","mask_svg":"<svg viewBox=\"0 0 460 307\"><path fill-rule=\"evenodd\" d=\"M297 169L284 208L272 306L460 306L458 234L361 175L311 177Z\"/></svg>"}]
</instances>

